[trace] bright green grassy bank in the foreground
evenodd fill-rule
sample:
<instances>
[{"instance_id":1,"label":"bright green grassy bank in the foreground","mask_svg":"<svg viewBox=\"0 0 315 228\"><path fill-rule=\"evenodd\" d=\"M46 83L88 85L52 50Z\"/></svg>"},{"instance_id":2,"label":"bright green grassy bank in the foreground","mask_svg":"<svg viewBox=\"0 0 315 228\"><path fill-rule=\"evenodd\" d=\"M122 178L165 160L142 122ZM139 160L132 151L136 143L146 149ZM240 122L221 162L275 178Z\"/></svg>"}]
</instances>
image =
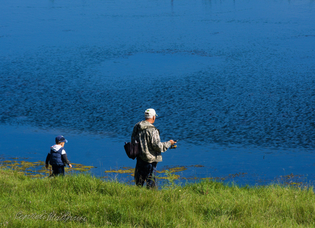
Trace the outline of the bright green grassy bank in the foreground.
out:
<instances>
[{"instance_id":1,"label":"bright green grassy bank in the foreground","mask_svg":"<svg viewBox=\"0 0 315 228\"><path fill-rule=\"evenodd\" d=\"M315 227L313 189L204 181L147 190L0 169L0 227Z\"/></svg>"}]
</instances>

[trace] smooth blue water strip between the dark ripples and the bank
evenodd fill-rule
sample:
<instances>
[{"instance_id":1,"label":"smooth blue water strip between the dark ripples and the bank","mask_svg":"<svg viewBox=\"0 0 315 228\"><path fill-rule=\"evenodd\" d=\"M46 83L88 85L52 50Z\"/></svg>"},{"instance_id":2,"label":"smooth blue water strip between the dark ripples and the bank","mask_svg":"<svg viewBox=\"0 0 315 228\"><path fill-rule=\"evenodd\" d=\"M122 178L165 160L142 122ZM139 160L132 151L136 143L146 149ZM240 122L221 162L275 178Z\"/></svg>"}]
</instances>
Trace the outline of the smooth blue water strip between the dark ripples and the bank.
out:
<instances>
[{"instance_id":1,"label":"smooth blue water strip between the dark ripples and the bank","mask_svg":"<svg viewBox=\"0 0 315 228\"><path fill-rule=\"evenodd\" d=\"M50 146L54 144L52 139L54 141L55 135L59 133L58 129L49 128L41 131L40 128L27 126L0 125L0 135L3 135L0 139L3 154L0 164L4 160L25 160L33 163L44 161ZM128 158L123 149L125 139L70 130L62 134L66 135L69 141L65 148L71 163L98 167L92 172L99 177L115 178L117 175L120 180L133 180L133 171L130 172L130 169L135 168L136 162ZM35 146L29 145L30 138L36 138ZM88 143L82 143L83 138ZM313 185L314 164L309 159L312 153L311 150L251 148L237 145L223 147L215 143L196 148L189 142L183 142L175 150L163 153L163 162L158 164L157 170L180 168L181 170L175 174L184 182L214 178L226 183L234 182L240 186L291 181Z\"/></svg>"}]
</instances>

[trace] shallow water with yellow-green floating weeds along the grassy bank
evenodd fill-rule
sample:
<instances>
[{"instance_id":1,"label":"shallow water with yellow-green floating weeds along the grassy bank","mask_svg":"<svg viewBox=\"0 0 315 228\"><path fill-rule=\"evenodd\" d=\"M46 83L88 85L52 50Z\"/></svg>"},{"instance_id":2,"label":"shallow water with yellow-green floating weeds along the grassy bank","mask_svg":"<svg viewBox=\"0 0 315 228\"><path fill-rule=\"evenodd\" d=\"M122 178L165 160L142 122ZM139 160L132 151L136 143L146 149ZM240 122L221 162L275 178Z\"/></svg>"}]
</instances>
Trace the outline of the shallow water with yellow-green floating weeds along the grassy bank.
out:
<instances>
[{"instance_id":1,"label":"shallow water with yellow-green floating weeds along the grassy bank","mask_svg":"<svg viewBox=\"0 0 315 228\"><path fill-rule=\"evenodd\" d=\"M0 157L0 168L5 168L9 170L14 170L30 178L47 178L51 172L51 166L49 165L48 169L45 169L44 161L29 161L30 158L12 158L12 160L6 160L4 157ZM190 166L161 166L160 169L157 170L157 184L161 182L163 185L164 180L172 180L176 185L183 186L187 183L194 183L196 181L210 180L210 181L219 181L226 185L238 185L239 187L243 186L268 186L271 184L277 185L291 185L291 186L314 186L314 183L309 181L302 175L295 175L293 173L285 175L280 175L278 178L274 180L256 180L255 184L245 184L239 183L237 180L246 179L251 175L249 173L235 173L229 174L226 176L183 176L183 172L189 172L194 169L203 169L205 168L203 165L190 165ZM98 171L97 171L98 169ZM96 172L95 172L96 171ZM76 175L79 173L84 173L88 175L93 175L96 178L100 178L102 180L119 180L121 183L126 183L129 185L134 184L134 166L124 166L124 167L116 167L114 169L106 170L103 167L96 167L84 164L72 163L72 168L70 169L68 166L65 167L66 175ZM101 174L101 175L100 175ZM258 177L258 175L257 175Z\"/></svg>"}]
</instances>

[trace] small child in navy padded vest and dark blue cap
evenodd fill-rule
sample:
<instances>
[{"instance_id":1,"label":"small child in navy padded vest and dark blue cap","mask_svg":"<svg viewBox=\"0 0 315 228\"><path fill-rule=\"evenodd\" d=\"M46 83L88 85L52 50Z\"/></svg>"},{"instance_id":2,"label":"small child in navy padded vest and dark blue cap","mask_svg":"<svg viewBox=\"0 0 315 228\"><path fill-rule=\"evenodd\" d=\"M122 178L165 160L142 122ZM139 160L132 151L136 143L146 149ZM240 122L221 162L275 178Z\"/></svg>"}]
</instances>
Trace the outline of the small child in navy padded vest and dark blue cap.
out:
<instances>
[{"instance_id":1,"label":"small child in navy padded vest and dark blue cap","mask_svg":"<svg viewBox=\"0 0 315 228\"><path fill-rule=\"evenodd\" d=\"M51 168L53 170L52 176L60 174L65 175L66 164L69 165L70 168L72 168L72 165L67 159L66 151L63 148L65 142L68 142L68 140L66 140L64 136L60 135L56 137L55 141L56 144L50 147L50 151L47 154L45 168L48 168L49 161L49 164L51 165Z\"/></svg>"}]
</instances>

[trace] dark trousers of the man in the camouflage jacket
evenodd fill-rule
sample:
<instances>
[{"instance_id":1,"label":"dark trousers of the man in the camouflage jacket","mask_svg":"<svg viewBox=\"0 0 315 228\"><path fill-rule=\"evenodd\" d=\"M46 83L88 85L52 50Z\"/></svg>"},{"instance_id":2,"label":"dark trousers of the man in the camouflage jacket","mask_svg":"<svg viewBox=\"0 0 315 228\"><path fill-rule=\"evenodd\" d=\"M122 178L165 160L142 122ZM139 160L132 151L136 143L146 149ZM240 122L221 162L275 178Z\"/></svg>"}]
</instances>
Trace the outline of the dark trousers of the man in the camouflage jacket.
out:
<instances>
[{"instance_id":1,"label":"dark trousers of the man in the camouflage jacket","mask_svg":"<svg viewBox=\"0 0 315 228\"><path fill-rule=\"evenodd\" d=\"M157 162L148 163L137 158L135 168L135 182L137 186L143 186L146 181L147 188L155 187L155 176L157 173Z\"/></svg>"}]
</instances>

